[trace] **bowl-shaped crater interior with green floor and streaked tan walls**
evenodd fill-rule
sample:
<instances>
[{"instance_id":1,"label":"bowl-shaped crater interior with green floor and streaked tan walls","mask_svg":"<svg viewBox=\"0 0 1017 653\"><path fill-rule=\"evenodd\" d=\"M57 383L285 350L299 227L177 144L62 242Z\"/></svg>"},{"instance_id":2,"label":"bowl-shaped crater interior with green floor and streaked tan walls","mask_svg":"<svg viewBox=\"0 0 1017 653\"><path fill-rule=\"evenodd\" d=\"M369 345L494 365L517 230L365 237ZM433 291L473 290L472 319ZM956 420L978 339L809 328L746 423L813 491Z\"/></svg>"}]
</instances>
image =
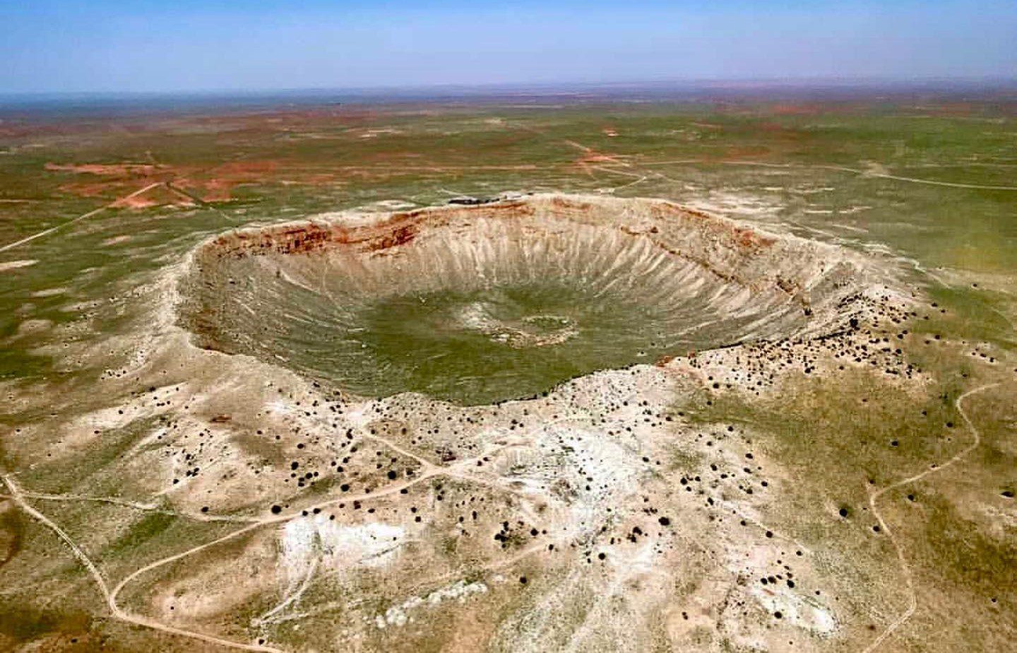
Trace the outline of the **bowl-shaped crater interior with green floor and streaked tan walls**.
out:
<instances>
[{"instance_id":1,"label":"bowl-shaped crater interior with green floor and streaked tan walls","mask_svg":"<svg viewBox=\"0 0 1017 653\"><path fill-rule=\"evenodd\" d=\"M207 349L482 404L834 329L858 274L834 247L662 200L536 195L231 232L194 252L178 308Z\"/></svg>"}]
</instances>

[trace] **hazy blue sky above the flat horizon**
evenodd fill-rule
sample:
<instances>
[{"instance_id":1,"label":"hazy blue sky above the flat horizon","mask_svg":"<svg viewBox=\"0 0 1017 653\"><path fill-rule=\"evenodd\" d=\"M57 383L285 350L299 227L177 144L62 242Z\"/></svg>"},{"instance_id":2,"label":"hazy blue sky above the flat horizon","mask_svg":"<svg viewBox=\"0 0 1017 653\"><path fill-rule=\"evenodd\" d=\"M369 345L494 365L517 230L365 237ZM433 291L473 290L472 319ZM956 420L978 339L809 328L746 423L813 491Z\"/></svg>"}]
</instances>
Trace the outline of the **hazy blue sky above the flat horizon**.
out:
<instances>
[{"instance_id":1,"label":"hazy blue sky above the flat horizon","mask_svg":"<svg viewBox=\"0 0 1017 653\"><path fill-rule=\"evenodd\" d=\"M979 76L1014 0L0 0L0 93Z\"/></svg>"}]
</instances>

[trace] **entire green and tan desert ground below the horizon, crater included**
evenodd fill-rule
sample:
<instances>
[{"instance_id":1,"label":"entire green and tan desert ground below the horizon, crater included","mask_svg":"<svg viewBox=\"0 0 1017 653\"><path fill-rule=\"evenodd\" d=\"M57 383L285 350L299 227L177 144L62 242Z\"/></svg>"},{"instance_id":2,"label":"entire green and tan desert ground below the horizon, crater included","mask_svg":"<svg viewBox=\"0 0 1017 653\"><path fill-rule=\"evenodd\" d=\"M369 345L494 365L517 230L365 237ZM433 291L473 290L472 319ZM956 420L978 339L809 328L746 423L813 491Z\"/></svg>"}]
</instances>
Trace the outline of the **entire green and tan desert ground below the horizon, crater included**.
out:
<instances>
[{"instance_id":1,"label":"entire green and tan desert ground below the horizon, crater included","mask_svg":"<svg viewBox=\"0 0 1017 653\"><path fill-rule=\"evenodd\" d=\"M631 100L0 107L0 650L1012 647L1017 100Z\"/></svg>"}]
</instances>

